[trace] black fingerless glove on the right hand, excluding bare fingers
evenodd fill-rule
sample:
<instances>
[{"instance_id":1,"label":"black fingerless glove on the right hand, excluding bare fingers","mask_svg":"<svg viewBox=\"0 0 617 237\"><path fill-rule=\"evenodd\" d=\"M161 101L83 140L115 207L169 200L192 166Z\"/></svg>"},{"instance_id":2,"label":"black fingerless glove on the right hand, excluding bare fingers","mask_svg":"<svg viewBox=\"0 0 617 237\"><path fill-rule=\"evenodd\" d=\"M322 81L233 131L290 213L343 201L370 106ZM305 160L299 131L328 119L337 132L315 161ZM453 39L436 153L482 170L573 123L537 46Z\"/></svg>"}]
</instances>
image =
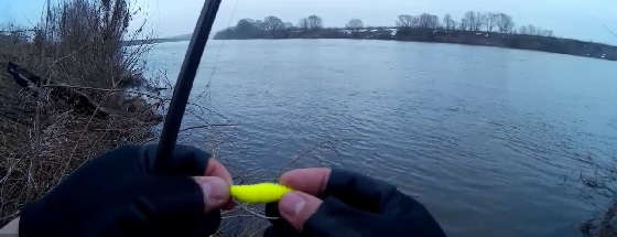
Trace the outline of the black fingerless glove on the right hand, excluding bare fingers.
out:
<instances>
[{"instance_id":1,"label":"black fingerless glove on the right hand, excluding bare fingers","mask_svg":"<svg viewBox=\"0 0 617 237\"><path fill-rule=\"evenodd\" d=\"M301 233L280 218L264 236L445 236L422 204L381 181L333 170L317 197L323 203ZM281 216L277 204L266 212Z\"/></svg>"}]
</instances>

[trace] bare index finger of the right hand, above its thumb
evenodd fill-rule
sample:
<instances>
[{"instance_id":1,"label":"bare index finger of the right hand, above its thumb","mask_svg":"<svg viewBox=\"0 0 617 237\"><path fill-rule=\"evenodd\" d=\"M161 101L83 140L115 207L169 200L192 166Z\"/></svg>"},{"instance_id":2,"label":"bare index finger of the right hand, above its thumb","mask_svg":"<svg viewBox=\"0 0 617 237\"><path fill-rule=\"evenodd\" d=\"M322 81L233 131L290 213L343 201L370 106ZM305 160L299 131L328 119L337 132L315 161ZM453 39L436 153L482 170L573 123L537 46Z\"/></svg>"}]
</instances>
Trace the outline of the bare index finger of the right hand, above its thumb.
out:
<instances>
[{"instance_id":1,"label":"bare index finger of the right hand, above its thumb","mask_svg":"<svg viewBox=\"0 0 617 237\"><path fill-rule=\"evenodd\" d=\"M331 173L328 168L293 170L281 176L281 184L317 196L326 190Z\"/></svg>"}]
</instances>

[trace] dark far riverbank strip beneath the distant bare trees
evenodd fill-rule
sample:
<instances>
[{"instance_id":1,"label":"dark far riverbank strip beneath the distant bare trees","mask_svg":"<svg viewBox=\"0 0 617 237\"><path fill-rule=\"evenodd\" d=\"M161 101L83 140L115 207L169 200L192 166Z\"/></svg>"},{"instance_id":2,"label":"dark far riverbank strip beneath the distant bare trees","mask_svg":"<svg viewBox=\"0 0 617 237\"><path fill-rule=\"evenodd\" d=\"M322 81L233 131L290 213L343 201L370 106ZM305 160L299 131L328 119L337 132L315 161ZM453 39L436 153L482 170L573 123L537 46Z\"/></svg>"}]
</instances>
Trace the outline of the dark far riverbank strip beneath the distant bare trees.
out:
<instances>
[{"instance_id":1,"label":"dark far riverbank strip beneath the distant bare trees","mask_svg":"<svg viewBox=\"0 0 617 237\"><path fill-rule=\"evenodd\" d=\"M275 36L271 34L246 34L236 29L218 32L215 40L251 39L354 39L452 43L466 45L497 46L518 50L569 54L599 60L617 61L617 46L552 36L511 34L481 31L459 31L415 28L364 28L364 29L318 29L285 30Z\"/></svg>"}]
</instances>

